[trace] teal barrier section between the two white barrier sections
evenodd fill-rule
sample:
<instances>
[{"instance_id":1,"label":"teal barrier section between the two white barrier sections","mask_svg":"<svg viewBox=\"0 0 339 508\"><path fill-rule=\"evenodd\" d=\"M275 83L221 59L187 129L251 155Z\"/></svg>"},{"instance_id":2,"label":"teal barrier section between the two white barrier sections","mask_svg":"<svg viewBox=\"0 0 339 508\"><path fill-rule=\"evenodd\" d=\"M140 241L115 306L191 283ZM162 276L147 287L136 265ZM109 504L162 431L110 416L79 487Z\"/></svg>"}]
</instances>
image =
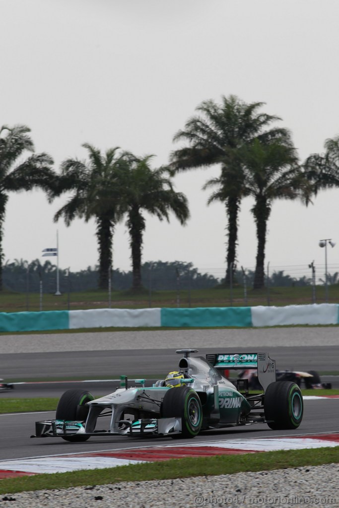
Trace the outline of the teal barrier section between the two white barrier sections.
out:
<instances>
[{"instance_id":1,"label":"teal barrier section between the two white barrier sections","mask_svg":"<svg viewBox=\"0 0 339 508\"><path fill-rule=\"evenodd\" d=\"M161 309L161 326L167 327L252 327L251 307L197 307Z\"/></svg>"}]
</instances>

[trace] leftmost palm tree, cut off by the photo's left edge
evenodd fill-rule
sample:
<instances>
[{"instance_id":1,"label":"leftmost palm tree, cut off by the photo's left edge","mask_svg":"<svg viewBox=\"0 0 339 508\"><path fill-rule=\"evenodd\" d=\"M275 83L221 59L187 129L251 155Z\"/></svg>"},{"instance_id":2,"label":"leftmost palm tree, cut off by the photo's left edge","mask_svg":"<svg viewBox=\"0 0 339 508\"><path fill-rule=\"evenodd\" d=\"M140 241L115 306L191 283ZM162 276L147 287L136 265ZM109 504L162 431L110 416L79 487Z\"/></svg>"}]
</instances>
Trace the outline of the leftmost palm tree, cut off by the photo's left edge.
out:
<instances>
[{"instance_id":1,"label":"leftmost palm tree, cut off by the photo's left edge","mask_svg":"<svg viewBox=\"0 0 339 508\"><path fill-rule=\"evenodd\" d=\"M9 192L42 188L47 193L55 180L51 170L52 158L47 153L33 153L18 163L25 152L34 152L34 144L25 125L10 128L3 125L0 129L0 291L3 289L3 226Z\"/></svg>"}]
</instances>

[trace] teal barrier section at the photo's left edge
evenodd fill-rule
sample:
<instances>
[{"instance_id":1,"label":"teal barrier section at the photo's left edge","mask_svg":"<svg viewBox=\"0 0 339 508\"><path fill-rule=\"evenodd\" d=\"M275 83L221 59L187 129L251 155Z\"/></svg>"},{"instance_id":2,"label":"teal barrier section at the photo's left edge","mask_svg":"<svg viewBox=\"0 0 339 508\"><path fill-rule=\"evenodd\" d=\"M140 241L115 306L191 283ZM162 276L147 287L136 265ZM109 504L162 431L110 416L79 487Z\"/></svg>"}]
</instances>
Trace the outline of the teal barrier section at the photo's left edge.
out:
<instances>
[{"instance_id":1,"label":"teal barrier section at the photo's left edge","mask_svg":"<svg viewBox=\"0 0 339 508\"><path fill-rule=\"evenodd\" d=\"M0 332L68 330L68 310L42 312L0 312Z\"/></svg>"}]
</instances>

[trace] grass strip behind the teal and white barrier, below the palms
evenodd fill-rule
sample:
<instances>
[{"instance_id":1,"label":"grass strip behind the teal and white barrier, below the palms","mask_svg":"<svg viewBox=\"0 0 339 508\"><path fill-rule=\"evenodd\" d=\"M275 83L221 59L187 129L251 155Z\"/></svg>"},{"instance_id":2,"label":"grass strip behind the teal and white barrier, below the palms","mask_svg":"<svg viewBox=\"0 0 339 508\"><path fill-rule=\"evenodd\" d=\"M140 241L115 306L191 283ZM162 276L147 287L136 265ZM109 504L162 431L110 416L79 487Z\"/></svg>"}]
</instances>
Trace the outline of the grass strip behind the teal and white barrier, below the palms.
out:
<instances>
[{"instance_id":1,"label":"grass strip behind the teal and white barrier, below the palms","mask_svg":"<svg viewBox=\"0 0 339 508\"><path fill-rule=\"evenodd\" d=\"M61 291L62 292L62 291ZM3 312L39 311L41 304L43 310L76 310L107 308L109 295L107 290L87 290L83 292L62 292L62 295L55 297L54 292L44 293L41 301L39 292L28 294L3 290L0 292L0 307ZM151 302L149 302L149 296ZM243 288L234 284L232 290L219 285L209 289L180 288L177 290L155 291L149 295L148 291L133 293L131 291L112 291L110 301L112 308L147 308L151 307L227 307L233 306L255 306L255 305L299 305L312 304L312 286L304 287L271 287L269 301L267 288L261 290L247 289L246 301ZM326 300L325 288L323 285L317 287L317 303ZM339 301L339 284L331 284L328 302Z\"/></svg>"}]
</instances>

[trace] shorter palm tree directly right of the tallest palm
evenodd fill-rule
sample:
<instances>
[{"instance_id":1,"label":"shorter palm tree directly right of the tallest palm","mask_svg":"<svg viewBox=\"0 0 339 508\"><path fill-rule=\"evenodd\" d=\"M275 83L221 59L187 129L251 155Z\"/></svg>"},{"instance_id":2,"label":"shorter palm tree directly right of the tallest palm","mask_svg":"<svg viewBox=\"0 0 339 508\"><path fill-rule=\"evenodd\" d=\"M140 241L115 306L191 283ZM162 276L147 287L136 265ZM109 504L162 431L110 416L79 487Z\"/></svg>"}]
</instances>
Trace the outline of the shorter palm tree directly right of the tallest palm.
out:
<instances>
[{"instance_id":1,"label":"shorter palm tree directly right of the tallest palm","mask_svg":"<svg viewBox=\"0 0 339 508\"><path fill-rule=\"evenodd\" d=\"M257 228L257 256L254 275L254 289L264 287L264 260L267 221L272 201L275 199L296 199L307 201L307 182L298 166L296 150L286 137L262 143L255 139L238 152L239 162L244 171L243 196L255 200L252 208Z\"/></svg>"}]
</instances>

